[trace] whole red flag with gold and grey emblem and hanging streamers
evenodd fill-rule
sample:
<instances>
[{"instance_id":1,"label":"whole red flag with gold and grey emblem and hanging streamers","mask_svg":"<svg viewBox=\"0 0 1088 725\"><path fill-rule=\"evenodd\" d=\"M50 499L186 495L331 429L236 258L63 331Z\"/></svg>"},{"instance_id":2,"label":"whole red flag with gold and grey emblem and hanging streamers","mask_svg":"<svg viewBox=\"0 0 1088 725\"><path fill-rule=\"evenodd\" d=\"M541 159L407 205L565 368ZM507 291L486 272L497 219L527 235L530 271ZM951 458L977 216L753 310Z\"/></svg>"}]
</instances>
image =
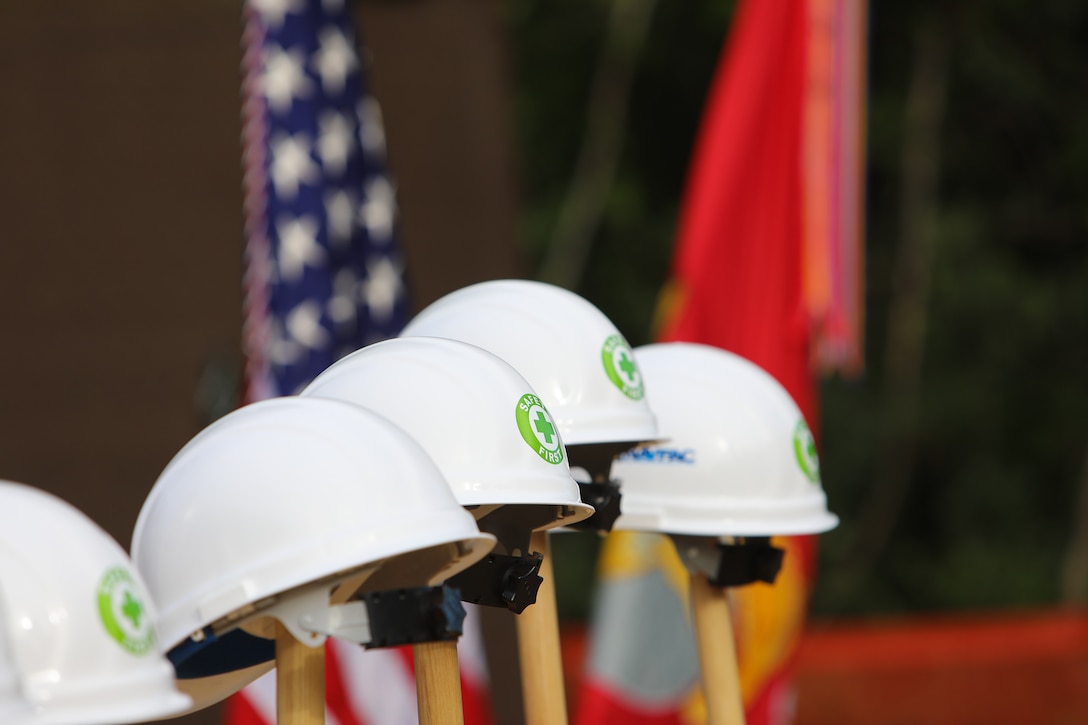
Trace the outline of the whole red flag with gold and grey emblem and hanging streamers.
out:
<instances>
[{"instance_id":1,"label":"whole red flag with gold and grey emblem and hanging streamers","mask_svg":"<svg viewBox=\"0 0 1088 725\"><path fill-rule=\"evenodd\" d=\"M659 310L659 340L716 345L759 365L814 430L817 364L858 364L862 74L850 66L861 54L844 49L861 38L862 1L740 3L704 109ZM576 725L705 721L694 638L690 626L678 628L684 569L654 536L605 542ZM791 663L814 555L809 537L778 543L788 553L775 587L733 590L750 725L792 720ZM663 628L671 635L646 639Z\"/></svg>"}]
</instances>

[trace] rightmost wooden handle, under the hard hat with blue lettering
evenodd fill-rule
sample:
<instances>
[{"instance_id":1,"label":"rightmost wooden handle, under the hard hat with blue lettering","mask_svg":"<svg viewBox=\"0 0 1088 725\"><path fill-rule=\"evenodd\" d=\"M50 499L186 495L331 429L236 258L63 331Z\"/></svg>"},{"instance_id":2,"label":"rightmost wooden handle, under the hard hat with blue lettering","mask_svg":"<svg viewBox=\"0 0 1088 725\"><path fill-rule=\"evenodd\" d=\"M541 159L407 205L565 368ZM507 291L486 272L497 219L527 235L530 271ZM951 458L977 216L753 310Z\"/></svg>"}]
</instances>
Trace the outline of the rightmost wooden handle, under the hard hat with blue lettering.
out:
<instances>
[{"instance_id":1,"label":"rightmost wooden handle, under the hard hat with blue lettering","mask_svg":"<svg viewBox=\"0 0 1088 725\"><path fill-rule=\"evenodd\" d=\"M691 604L703 673L706 725L743 725L744 701L729 612L729 590L712 585L705 574L692 572Z\"/></svg>"}]
</instances>

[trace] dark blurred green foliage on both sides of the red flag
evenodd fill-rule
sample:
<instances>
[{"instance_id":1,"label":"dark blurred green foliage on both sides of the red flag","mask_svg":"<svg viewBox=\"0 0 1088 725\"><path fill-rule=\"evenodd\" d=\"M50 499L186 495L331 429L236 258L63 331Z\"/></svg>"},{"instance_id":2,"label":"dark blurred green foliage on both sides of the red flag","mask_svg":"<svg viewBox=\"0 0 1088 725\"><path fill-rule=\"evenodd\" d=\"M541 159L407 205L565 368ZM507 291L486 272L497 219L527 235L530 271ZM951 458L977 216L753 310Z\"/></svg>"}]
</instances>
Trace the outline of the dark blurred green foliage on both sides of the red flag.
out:
<instances>
[{"instance_id":1,"label":"dark blurred green foliage on both sides of the red flag","mask_svg":"<svg viewBox=\"0 0 1088 725\"><path fill-rule=\"evenodd\" d=\"M650 339L677 208L732 3L654 9L615 184L578 292L633 344ZM509 5L524 251L539 262L584 132L608 4ZM945 108L908 488L886 548L837 579L887 480L885 345L902 228L904 106L919 32L943 41ZM867 348L821 382L817 614L1038 605L1061 570L1088 446L1088 5L874 3L867 130ZM902 434L899 431L897 434ZM584 616L594 542L557 544L560 610ZM578 560L568 567L564 561ZM577 569L564 574L565 569ZM1065 592L1066 599L1070 593Z\"/></svg>"}]
</instances>

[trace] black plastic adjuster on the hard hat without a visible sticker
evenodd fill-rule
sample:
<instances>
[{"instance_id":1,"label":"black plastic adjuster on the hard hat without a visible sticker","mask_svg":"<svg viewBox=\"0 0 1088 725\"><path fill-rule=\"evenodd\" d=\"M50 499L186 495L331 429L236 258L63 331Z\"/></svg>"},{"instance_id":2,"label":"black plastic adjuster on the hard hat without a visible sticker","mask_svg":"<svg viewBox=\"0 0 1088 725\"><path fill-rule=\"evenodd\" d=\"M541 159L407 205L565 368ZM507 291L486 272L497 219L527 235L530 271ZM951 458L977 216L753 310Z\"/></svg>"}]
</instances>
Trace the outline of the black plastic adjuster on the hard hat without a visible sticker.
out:
<instances>
[{"instance_id":1,"label":"black plastic adjuster on the hard hat without a visible sticker","mask_svg":"<svg viewBox=\"0 0 1088 725\"><path fill-rule=\"evenodd\" d=\"M461 636L465 607L454 587L392 589L359 594L370 618L367 649L417 642L456 641Z\"/></svg>"}]
</instances>

